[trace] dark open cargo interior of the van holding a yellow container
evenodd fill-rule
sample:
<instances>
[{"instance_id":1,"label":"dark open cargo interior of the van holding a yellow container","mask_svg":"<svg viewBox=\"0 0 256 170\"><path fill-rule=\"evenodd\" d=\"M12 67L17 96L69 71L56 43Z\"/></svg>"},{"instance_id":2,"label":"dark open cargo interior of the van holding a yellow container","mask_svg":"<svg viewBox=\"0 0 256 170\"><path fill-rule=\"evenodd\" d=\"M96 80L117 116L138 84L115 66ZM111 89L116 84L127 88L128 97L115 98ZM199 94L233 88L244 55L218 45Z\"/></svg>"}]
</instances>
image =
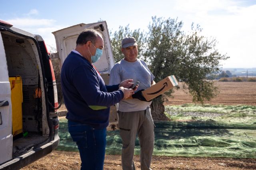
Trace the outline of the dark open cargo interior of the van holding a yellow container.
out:
<instances>
[{"instance_id":1,"label":"dark open cargo interior of the van holding a yellow container","mask_svg":"<svg viewBox=\"0 0 256 170\"><path fill-rule=\"evenodd\" d=\"M6 53L11 89L22 84L20 92L12 93L13 157L32 150L49 137L46 115L42 59L33 39L12 32L1 32ZM20 78L20 81L17 81ZM12 90L11 90L12 91ZM18 97L22 97L18 101ZM20 104L22 102L22 104ZM14 105L20 104L18 109ZM18 118L20 117L20 118ZM19 119L19 120L17 120ZM22 119L22 120L21 120ZM20 125L22 124L22 125ZM14 125L22 129L14 131Z\"/></svg>"}]
</instances>

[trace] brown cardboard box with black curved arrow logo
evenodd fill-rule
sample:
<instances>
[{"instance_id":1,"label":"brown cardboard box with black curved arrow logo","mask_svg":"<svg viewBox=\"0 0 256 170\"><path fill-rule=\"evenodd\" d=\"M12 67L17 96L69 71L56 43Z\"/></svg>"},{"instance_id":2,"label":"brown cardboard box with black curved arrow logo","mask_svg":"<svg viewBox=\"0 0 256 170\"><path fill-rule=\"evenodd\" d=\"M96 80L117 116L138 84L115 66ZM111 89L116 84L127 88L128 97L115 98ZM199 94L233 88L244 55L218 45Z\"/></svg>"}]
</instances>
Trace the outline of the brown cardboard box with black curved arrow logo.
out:
<instances>
[{"instance_id":1,"label":"brown cardboard box with black curved arrow logo","mask_svg":"<svg viewBox=\"0 0 256 170\"><path fill-rule=\"evenodd\" d=\"M176 80L174 75L170 75L165 79L162 79L155 85L152 85L148 89L142 91L142 95L145 97L147 101L162 95L164 92L172 89L174 86L178 85L178 81Z\"/></svg>"}]
</instances>

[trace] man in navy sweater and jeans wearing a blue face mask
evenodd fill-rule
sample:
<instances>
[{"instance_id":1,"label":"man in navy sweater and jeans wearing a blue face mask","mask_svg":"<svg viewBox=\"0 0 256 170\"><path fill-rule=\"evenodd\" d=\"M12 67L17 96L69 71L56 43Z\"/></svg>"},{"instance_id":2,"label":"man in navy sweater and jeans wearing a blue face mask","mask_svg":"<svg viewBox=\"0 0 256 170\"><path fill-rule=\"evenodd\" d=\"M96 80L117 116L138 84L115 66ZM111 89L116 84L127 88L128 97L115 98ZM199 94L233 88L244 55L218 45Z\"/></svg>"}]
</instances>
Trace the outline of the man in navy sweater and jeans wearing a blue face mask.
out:
<instances>
[{"instance_id":1,"label":"man in navy sweater and jeans wearing a blue face mask","mask_svg":"<svg viewBox=\"0 0 256 170\"><path fill-rule=\"evenodd\" d=\"M102 36L95 30L85 30L61 70L68 131L78 146L81 170L103 169L110 106L134 94L134 90L126 89L132 79L112 86L104 84L92 65L101 57L103 48Z\"/></svg>"}]
</instances>

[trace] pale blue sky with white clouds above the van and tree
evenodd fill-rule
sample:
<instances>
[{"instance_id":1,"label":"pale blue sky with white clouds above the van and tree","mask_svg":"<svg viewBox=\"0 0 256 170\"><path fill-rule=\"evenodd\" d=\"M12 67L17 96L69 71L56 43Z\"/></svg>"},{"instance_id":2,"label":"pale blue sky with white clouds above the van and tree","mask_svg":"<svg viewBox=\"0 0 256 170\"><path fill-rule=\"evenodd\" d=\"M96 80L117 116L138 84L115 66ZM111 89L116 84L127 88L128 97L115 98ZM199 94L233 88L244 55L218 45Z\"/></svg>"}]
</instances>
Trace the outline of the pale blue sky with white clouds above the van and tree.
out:
<instances>
[{"instance_id":1,"label":"pale blue sky with white clouds above the van and tree","mask_svg":"<svg viewBox=\"0 0 256 170\"><path fill-rule=\"evenodd\" d=\"M224 68L256 67L256 0L4 0L0 20L42 36L56 49L52 32L105 20L108 29L119 26L148 31L152 16L182 21L182 30L199 24L202 34L217 40L217 49L230 58Z\"/></svg>"}]
</instances>

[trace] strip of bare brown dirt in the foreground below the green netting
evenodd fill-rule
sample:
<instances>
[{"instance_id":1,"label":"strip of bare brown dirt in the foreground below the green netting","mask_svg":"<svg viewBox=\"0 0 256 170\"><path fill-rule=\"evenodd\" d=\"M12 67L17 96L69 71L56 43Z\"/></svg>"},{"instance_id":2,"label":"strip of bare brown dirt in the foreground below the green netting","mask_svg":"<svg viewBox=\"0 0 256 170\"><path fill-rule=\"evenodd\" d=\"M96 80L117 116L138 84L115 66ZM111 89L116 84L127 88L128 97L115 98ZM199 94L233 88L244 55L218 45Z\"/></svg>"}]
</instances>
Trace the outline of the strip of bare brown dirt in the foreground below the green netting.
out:
<instances>
[{"instance_id":1,"label":"strip of bare brown dirt in the foreground below the green netting","mask_svg":"<svg viewBox=\"0 0 256 170\"><path fill-rule=\"evenodd\" d=\"M140 169L140 158L134 156L135 167ZM153 170L255 170L256 159L238 158L186 158L153 156ZM80 157L78 152L54 150L44 158L22 168L22 170L78 170ZM104 170L122 170L120 155L106 155Z\"/></svg>"}]
</instances>

